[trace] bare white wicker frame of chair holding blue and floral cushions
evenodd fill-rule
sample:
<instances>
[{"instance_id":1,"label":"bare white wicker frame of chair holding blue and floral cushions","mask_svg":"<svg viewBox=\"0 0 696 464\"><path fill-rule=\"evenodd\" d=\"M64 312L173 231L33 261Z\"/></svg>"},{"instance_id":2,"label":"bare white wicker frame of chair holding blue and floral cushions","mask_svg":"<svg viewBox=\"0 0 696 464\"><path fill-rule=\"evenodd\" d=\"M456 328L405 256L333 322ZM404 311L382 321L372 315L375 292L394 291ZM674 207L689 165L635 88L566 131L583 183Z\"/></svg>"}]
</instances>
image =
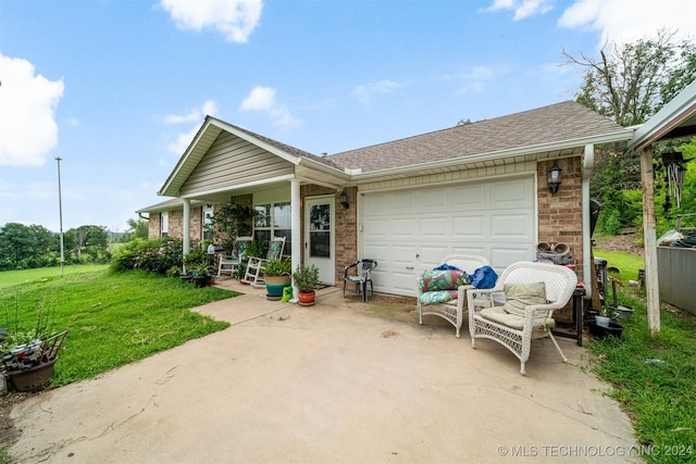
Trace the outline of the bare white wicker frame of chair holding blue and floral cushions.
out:
<instances>
[{"instance_id":1,"label":"bare white wicker frame of chair holding blue and floral cushions","mask_svg":"<svg viewBox=\"0 0 696 464\"><path fill-rule=\"evenodd\" d=\"M475 256L469 254L450 254L445 256L440 264L449 264L451 266L456 266L461 271L464 271L467 274L471 275L474 271L476 271L481 266L487 266L488 260L483 256ZM421 304L421 296L423 294L420 286L420 277L415 279L415 288L418 291L418 321L422 325L423 324L423 315L432 314L436 316L443 317L445 321L449 322L457 329L457 338L459 338L459 331L461 329L461 325L464 321L464 306L467 304L467 296L465 292L470 288L474 288L472 285L460 286L457 289L457 299L448 301L447 303L439 304Z\"/></svg>"}]
</instances>

